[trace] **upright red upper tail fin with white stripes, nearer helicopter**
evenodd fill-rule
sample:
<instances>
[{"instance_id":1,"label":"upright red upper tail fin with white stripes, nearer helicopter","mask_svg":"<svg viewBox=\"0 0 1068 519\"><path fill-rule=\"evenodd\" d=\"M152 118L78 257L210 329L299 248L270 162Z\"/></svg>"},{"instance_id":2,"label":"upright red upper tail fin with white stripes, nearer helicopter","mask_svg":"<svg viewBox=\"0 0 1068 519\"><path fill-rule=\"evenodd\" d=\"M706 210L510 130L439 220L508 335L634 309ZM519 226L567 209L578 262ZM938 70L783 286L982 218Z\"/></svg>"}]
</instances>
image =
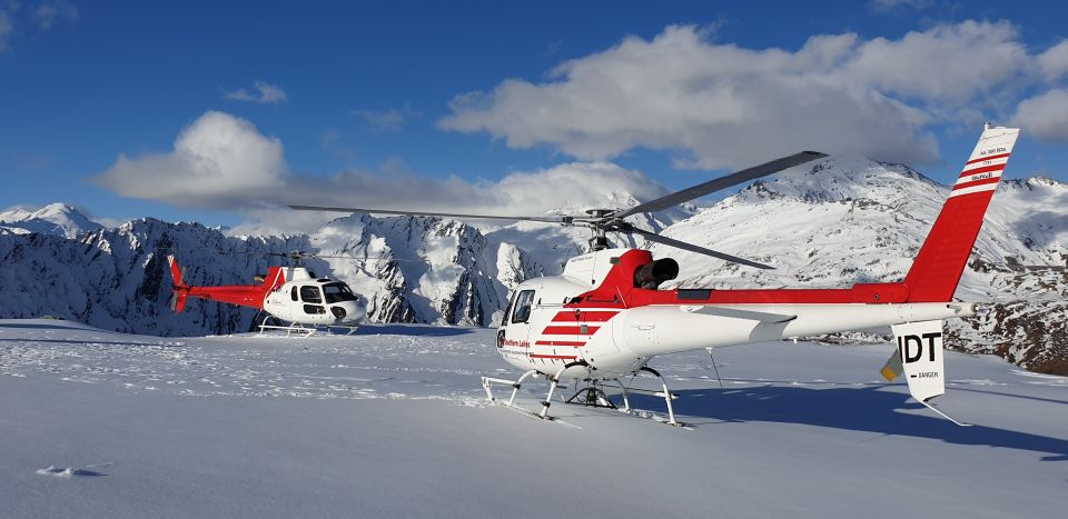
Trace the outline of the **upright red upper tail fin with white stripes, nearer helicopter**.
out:
<instances>
[{"instance_id":1,"label":"upright red upper tail fin with white stripes, nearer helicopter","mask_svg":"<svg viewBox=\"0 0 1068 519\"><path fill-rule=\"evenodd\" d=\"M909 302L950 301L976 244L982 217L1020 136L1016 128L983 128L979 143L953 184L904 285Z\"/></svg>"}]
</instances>

